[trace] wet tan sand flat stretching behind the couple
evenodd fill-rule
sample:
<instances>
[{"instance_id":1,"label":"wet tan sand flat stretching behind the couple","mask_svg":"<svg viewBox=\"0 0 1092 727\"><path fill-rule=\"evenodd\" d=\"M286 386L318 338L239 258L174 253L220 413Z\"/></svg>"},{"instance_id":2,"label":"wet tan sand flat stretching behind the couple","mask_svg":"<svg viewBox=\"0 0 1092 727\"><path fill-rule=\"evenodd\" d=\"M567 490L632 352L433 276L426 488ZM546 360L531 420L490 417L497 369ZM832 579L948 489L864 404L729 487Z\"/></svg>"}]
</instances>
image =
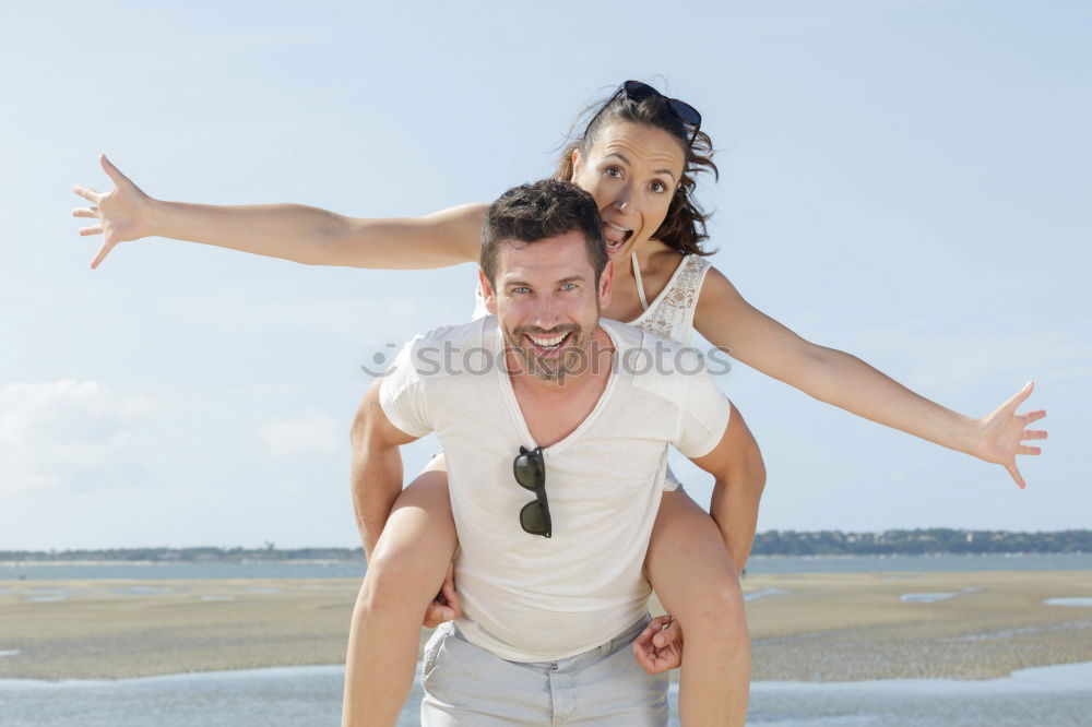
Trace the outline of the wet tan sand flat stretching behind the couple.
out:
<instances>
[{"instance_id":1,"label":"wet tan sand flat stretching behind the couple","mask_svg":"<svg viewBox=\"0 0 1092 727\"><path fill-rule=\"evenodd\" d=\"M341 664L358 587L0 581L0 679ZM744 588L756 680L982 679L1092 662L1092 608L1044 603L1092 597L1090 571L771 574Z\"/></svg>"}]
</instances>

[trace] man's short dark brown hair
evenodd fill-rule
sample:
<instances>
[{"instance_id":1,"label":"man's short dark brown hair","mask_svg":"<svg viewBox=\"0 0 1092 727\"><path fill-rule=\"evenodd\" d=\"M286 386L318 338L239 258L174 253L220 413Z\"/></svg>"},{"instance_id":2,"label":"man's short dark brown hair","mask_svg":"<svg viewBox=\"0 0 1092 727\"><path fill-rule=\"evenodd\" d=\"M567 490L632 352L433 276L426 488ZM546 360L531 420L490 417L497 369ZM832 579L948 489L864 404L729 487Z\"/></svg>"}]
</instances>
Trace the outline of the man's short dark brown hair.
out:
<instances>
[{"instance_id":1,"label":"man's short dark brown hair","mask_svg":"<svg viewBox=\"0 0 1092 727\"><path fill-rule=\"evenodd\" d=\"M580 230L595 284L607 265L607 241L603 221L592 195L571 182L543 179L508 190L489 205L482 226L482 270L497 284L497 257L508 242L538 242Z\"/></svg>"}]
</instances>

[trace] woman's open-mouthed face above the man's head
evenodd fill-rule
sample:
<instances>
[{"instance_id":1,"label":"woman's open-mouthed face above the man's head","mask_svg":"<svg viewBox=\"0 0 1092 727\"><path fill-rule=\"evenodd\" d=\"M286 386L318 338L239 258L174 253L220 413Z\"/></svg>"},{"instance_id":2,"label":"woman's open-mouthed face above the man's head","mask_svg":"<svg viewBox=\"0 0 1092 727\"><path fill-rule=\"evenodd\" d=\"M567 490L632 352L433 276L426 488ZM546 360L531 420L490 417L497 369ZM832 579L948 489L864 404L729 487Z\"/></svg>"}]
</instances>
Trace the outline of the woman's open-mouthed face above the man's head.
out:
<instances>
[{"instance_id":1,"label":"woman's open-mouthed face above the man's head","mask_svg":"<svg viewBox=\"0 0 1092 727\"><path fill-rule=\"evenodd\" d=\"M604 128L586 156L573 152L572 181L595 199L612 259L628 255L655 235L685 160L673 135L629 121Z\"/></svg>"}]
</instances>

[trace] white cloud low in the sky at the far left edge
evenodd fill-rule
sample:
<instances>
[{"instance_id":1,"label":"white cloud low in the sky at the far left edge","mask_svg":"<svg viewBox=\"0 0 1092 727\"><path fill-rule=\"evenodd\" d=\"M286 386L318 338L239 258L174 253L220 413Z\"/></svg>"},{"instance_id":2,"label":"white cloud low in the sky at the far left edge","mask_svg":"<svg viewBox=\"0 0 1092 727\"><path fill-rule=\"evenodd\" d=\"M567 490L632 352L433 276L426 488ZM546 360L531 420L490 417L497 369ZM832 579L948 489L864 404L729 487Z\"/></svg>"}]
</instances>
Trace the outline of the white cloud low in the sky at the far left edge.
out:
<instances>
[{"instance_id":1,"label":"white cloud low in the sky at the far left edge","mask_svg":"<svg viewBox=\"0 0 1092 727\"><path fill-rule=\"evenodd\" d=\"M0 386L0 491L112 485L126 452L156 409L96 381Z\"/></svg>"}]
</instances>

